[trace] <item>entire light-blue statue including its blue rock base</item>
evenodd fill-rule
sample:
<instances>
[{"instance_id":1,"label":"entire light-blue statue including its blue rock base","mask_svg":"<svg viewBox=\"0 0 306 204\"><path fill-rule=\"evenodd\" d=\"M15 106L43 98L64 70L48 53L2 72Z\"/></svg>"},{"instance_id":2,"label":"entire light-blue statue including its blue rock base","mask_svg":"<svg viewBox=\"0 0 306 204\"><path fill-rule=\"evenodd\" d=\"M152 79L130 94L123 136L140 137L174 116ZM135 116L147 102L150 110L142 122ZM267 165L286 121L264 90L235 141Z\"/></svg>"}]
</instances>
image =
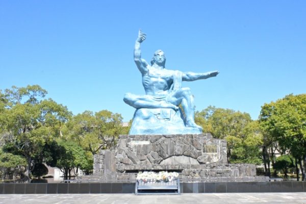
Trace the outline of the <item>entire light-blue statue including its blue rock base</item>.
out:
<instances>
[{"instance_id":1,"label":"entire light-blue statue including its blue rock base","mask_svg":"<svg viewBox=\"0 0 306 204\"><path fill-rule=\"evenodd\" d=\"M216 77L218 71L206 73L181 72L165 68L166 57L157 50L149 65L141 58L140 44L146 34L139 30L134 61L142 74L145 95L126 93L124 102L136 108L130 135L201 134L194 122L194 98L182 81ZM183 108L179 108L179 105Z\"/></svg>"}]
</instances>

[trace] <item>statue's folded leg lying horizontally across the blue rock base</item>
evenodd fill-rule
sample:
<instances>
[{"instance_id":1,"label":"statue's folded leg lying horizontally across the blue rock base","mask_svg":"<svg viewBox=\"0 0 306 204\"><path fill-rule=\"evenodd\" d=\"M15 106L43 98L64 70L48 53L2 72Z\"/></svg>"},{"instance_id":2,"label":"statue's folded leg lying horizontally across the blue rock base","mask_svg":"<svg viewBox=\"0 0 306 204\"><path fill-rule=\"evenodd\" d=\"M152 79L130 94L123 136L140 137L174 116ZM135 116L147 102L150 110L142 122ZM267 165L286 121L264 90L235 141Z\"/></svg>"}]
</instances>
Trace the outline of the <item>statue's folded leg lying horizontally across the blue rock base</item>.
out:
<instances>
[{"instance_id":1,"label":"statue's folded leg lying horizontally across the blue rock base","mask_svg":"<svg viewBox=\"0 0 306 204\"><path fill-rule=\"evenodd\" d=\"M166 97L165 97L166 98ZM167 103L164 99L157 100L154 96L151 95L135 95L132 93L126 93L123 98L124 102L136 109L139 108L171 108L174 110L178 110L179 107Z\"/></svg>"}]
</instances>

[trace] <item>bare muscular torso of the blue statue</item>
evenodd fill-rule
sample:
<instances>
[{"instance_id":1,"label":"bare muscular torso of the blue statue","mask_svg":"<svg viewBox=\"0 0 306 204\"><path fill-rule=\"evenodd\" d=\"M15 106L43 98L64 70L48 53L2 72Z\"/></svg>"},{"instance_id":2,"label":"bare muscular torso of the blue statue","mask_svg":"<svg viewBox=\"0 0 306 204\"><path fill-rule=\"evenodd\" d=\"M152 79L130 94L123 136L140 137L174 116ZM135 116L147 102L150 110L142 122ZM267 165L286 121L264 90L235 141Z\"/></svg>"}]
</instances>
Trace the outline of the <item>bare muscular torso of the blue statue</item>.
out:
<instances>
[{"instance_id":1,"label":"bare muscular torso of the blue statue","mask_svg":"<svg viewBox=\"0 0 306 204\"><path fill-rule=\"evenodd\" d=\"M173 83L173 70L157 69L148 66L148 71L142 75L142 84L146 94L161 95L168 92Z\"/></svg>"}]
</instances>

